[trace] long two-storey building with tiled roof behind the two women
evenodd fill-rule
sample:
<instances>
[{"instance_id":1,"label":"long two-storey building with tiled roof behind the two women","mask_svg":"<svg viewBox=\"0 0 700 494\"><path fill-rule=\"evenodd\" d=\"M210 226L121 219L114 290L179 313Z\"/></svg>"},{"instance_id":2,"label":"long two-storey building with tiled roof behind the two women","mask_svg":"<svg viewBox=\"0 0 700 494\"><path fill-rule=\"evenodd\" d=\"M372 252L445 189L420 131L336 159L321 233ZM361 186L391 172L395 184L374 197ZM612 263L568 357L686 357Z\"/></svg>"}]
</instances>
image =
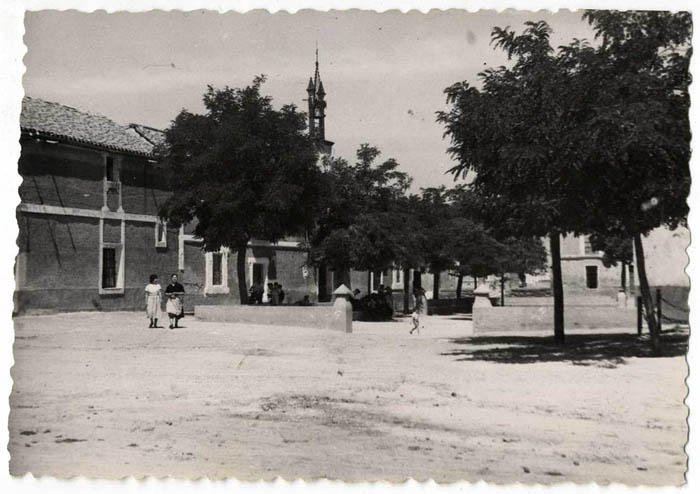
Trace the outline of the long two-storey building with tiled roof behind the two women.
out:
<instances>
[{"instance_id":1,"label":"long two-storey building with tiled roof behind the two women","mask_svg":"<svg viewBox=\"0 0 700 494\"><path fill-rule=\"evenodd\" d=\"M170 194L154 154L161 131L29 97L20 122L17 313L139 309L151 274L164 285L179 274L190 309L240 299L235 255L205 253L192 225L158 218ZM288 300L317 292L298 242L253 241L246 263L249 282L272 276Z\"/></svg>"}]
</instances>

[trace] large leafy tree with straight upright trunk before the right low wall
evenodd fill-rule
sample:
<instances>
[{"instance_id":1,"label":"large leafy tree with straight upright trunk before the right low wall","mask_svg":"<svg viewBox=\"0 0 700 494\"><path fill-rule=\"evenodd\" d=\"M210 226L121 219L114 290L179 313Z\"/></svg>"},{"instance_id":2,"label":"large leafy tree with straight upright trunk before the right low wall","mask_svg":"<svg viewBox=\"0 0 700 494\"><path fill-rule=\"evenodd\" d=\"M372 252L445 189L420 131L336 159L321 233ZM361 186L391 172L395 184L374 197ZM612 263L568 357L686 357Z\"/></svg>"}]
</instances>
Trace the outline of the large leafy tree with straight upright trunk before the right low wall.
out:
<instances>
[{"instance_id":1,"label":"large leafy tree with straight upright trunk before the right low wall","mask_svg":"<svg viewBox=\"0 0 700 494\"><path fill-rule=\"evenodd\" d=\"M549 237L554 336L564 341L560 236L578 232L585 214L585 178L579 171L571 74L552 49L546 22L524 32L495 28L492 40L514 59L510 68L479 74L447 88L450 110L438 112L458 164L455 178L476 172L470 189L496 237Z\"/></svg>"}]
</instances>

